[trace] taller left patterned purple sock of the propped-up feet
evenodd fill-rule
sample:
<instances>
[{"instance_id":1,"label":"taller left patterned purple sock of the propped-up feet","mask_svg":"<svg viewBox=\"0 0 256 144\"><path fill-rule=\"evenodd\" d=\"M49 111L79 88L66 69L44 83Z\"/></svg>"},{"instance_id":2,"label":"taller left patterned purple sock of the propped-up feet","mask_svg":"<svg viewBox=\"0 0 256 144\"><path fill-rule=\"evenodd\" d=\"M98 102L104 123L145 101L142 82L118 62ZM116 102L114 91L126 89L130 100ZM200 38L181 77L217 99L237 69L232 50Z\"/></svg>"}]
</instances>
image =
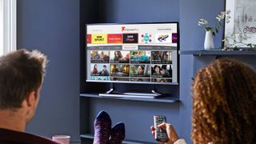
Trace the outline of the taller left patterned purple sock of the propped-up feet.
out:
<instances>
[{"instance_id":1,"label":"taller left patterned purple sock of the propped-up feet","mask_svg":"<svg viewBox=\"0 0 256 144\"><path fill-rule=\"evenodd\" d=\"M110 131L110 115L102 110L94 120L94 144L107 144L110 138Z\"/></svg>"}]
</instances>

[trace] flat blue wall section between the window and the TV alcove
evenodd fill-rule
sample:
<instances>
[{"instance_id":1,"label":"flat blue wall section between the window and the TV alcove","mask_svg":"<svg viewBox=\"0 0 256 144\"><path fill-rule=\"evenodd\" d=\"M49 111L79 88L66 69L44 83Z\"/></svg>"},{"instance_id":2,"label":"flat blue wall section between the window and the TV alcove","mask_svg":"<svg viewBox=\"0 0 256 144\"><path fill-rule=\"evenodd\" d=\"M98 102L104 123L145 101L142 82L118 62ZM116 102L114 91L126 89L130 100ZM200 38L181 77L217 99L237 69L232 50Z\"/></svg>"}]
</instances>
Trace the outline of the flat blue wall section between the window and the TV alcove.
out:
<instances>
[{"instance_id":1,"label":"flat blue wall section between the window and the TV alcove","mask_svg":"<svg viewBox=\"0 0 256 144\"><path fill-rule=\"evenodd\" d=\"M18 0L18 48L50 59L37 114L26 131L79 141L79 1Z\"/></svg>"}]
</instances>

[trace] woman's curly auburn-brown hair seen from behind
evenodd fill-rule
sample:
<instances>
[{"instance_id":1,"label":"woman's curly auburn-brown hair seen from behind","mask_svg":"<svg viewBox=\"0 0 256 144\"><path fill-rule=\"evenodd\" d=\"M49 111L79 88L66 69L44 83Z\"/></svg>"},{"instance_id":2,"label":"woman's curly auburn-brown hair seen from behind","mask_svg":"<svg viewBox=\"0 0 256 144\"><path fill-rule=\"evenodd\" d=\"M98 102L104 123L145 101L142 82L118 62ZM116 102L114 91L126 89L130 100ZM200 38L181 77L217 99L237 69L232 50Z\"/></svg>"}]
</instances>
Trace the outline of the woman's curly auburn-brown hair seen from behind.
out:
<instances>
[{"instance_id":1,"label":"woman's curly auburn-brown hair seen from behind","mask_svg":"<svg viewBox=\"0 0 256 144\"><path fill-rule=\"evenodd\" d=\"M256 73L250 66L217 59L198 71L192 89L194 144L256 142Z\"/></svg>"}]
</instances>

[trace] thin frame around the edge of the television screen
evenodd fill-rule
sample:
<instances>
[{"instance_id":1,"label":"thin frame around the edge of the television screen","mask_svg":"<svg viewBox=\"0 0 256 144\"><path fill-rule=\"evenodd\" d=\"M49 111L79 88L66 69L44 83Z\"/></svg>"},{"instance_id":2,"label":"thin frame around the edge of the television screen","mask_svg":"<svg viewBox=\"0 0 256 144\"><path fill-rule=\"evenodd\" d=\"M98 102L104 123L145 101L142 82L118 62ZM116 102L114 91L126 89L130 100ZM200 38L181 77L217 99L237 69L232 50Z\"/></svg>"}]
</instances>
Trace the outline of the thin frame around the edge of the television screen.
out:
<instances>
[{"instance_id":1,"label":"thin frame around the edge of the television screen","mask_svg":"<svg viewBox=\"0 0 256 144\"><path fill-rule=\"evenodd\" d=\"M180 50L180 38L179 38L179 23L178 22L127 22L127 23L86 23L86 56L87 56L87 26L98 26L98 25L140 25L140 24L176 24L177 25L177 82L136 82L136 81L96 81L90 80L87 78L86 74L86 82L100 82L100 83L127 83L127 84L147 84L147 85L179 85L179 50ZM87 58L85 63L86 73L88 72L87 68Z\"/></svg>"}]
</instances>

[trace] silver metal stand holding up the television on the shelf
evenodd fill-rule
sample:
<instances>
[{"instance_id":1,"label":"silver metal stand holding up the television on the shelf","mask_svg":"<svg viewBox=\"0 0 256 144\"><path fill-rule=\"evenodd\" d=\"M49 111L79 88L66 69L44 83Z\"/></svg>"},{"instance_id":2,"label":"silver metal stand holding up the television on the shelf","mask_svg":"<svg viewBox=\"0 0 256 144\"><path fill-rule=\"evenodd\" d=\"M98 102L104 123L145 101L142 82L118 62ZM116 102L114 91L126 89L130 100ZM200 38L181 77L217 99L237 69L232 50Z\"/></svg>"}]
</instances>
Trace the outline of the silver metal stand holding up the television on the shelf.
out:
<instances>
[{"instance_id":1,"label":"silver metal stand holding up the television on the shelf","mask_svg":"<svg viewBox=\"0 0 256 144\"><path fill-rule=\"evenodd\" d=\"M154 86L154 90L151 90L151 93L137 93L137 92L116 92L114 91L114 85L111 83L110 90L107 90L106 93L98 94L102 97L117 97L117 98L162 98L164 94L157 92Z\"/></svg>"}]
</instances>

